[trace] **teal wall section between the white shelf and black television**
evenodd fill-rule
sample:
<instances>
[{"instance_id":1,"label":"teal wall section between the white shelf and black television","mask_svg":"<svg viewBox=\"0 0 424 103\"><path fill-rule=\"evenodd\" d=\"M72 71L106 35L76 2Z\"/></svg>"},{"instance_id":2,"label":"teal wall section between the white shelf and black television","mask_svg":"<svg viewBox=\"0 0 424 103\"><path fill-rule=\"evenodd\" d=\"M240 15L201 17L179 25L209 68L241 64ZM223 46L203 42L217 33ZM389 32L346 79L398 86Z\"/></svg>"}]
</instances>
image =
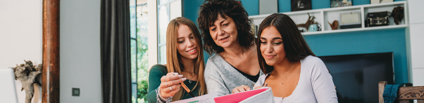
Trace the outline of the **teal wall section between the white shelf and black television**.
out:
<instances>
[{"instance_id":1,"label":"teal wall section between the white shelf and black television","mask_svg":"<svg viewBox=\"0 0 424 103\"><path fill-rule=\"evenodd\" d=\"M405 29L304 35L317 56L393 52L395 83L408 83Z\"/></svg>"}]
</instances>

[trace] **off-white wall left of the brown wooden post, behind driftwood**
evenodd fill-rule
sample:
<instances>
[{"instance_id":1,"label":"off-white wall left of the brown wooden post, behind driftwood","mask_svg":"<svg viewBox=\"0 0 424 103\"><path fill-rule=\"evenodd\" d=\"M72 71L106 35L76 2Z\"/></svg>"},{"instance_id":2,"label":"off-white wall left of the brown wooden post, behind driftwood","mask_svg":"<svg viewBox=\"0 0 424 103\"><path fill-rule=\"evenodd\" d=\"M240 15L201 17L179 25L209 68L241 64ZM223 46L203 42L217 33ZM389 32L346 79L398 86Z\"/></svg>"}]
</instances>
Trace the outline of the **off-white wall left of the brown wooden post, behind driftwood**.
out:
<instances>
[{"instance_id":1,"label":"off-white wall left of the brown wooden post, behind driftwood","mask_svg":"<svg viewBox=\"0 0 424 103\"><path fill-rule=\"evenodd\" d=\"M42 0L0 0L0 69L16 67L23 60L42 61ZM25 90L16 82L18 102ZM34 84L32 103L41 103L41 87Z\"/></svg>"}]
</instances>

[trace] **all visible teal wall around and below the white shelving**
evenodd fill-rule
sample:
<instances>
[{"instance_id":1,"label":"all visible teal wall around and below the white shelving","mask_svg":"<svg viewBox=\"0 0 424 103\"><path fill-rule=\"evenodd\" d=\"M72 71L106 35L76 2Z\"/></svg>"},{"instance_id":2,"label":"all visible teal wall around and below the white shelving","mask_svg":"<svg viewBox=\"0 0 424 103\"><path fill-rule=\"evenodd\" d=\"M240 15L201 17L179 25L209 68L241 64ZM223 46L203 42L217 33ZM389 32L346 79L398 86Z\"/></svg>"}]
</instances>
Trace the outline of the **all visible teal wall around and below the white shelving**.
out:
<instances>
[{"instance_id":1,"label":"all visible teal wall around and below the white shelving","mask_svg":"<svg viewBox=\"0 0 424 103\"><path fill-rule=\"evenodd\" d=\"M249 15L259 14L259 0L241 0ZM394 0L402 1L402 0ZM370 4L370 0L353 0L353 5ZM198 18L203 0L184 0L183 17ZM278 0L279 12L289 12L290 0ZM312 0L312 9L329 8L330 0ZM354 31L304 35L317 56L393 52L395 83L408 83L405 29ZM205 53L205 61L209 56Z\"/></svg>"}]
</instances>

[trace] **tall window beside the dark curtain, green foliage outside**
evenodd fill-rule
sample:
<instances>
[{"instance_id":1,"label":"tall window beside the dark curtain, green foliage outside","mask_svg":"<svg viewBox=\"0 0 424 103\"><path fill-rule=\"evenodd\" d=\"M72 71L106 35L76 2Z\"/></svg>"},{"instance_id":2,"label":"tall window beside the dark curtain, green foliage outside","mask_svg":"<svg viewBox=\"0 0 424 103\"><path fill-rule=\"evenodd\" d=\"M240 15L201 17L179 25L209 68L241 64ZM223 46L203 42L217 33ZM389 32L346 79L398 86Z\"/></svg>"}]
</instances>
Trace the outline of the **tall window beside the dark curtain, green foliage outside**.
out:
<instances>
[{"instance_id":1,"label":"tall window beside the dark curtain, green foliage outside","mask_svg":"<svg viewBox=\"0 0 424 103\"><path fill-rule=\"evenodd\" d=\"M131 34L132 103L147 103L148 94L148 8L147 0L129 0Z\"/></svg>"}]
</instances>

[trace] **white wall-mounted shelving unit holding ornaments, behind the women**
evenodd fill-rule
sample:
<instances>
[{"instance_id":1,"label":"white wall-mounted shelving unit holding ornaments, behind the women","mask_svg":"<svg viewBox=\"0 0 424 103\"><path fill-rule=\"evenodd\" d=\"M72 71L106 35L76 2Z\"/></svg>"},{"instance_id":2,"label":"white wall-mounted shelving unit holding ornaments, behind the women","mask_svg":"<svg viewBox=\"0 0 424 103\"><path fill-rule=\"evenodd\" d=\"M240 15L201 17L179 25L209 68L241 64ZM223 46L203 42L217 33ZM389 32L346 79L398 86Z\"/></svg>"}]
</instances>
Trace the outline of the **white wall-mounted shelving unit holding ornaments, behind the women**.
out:
<instances>
[{"instance_id":1,"label":"white wall-mounted shelving unit holding ornaments, behind the women","mask_svg":"<svg viewBox=\"0 0 424 103\"><path fill-rule=\"evenodd\" d=\"M404 7L404 18L399 25L396 25L393 22L393 17L389 17L390 25L387 26L376 26L376 27L365 27L365 14L368 12L381 12L389 11L391 12L393 8L402 6ZM406 28L408 26L407 21L409 17L407 13L407 1L397 1L392 3L380 3L380 4L367 4L359 6L346 6L338 8L322 8L322 9L313 9L313 10L304 10L304 11L293 11L293 12L284 12L282 14L287 14L290 18L293 19L296 24L305 23L308 19L309 13L311 16L315 16L315 22L318 22L321 25L321 31L315 32L303 32L303 35L310 34L321 34L321 33L341 33L341 32L350 32L350 31L368 31L368 30L377 30L377 29L393 29L393 28ZM361 13L361 28L350 28L350 29L340 29L340 13L349 13L349 12L360 12ZM262 14L262 15L253 15L249 16L254 25L259 25L263 19L268 17L271 14ZM332 23L334 20L339 21L339 27L337 30L331 30L328 22Z\"/></svg>"}]
</instances>

